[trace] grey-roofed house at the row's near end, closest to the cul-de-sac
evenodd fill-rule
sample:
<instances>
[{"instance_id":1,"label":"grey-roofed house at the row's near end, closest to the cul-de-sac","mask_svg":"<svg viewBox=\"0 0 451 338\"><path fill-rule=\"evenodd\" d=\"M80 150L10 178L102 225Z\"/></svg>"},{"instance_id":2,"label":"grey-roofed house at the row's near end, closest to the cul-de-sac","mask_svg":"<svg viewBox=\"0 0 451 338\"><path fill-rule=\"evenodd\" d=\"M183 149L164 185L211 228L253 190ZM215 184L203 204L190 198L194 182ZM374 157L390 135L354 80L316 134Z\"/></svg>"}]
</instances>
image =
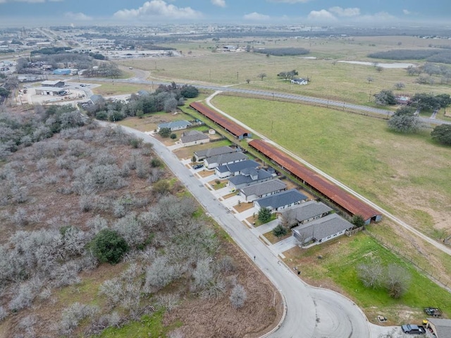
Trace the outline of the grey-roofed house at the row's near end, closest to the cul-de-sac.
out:
<instances>
[{"instance_id":1,"label":"grey-roofed house at the row's near end, closest to the cul-de-sac","mask_svg":"<svg viewBox=\"0 0 451 338\"><path fill-rule=\"evenodd\" d=\"M302 246L311 241L317 243L327 242L345 234L346 230L352 229L353 226L337 213L331 213L323 218L293 227L292 234Z\"/></svg>"}]
</instances>

